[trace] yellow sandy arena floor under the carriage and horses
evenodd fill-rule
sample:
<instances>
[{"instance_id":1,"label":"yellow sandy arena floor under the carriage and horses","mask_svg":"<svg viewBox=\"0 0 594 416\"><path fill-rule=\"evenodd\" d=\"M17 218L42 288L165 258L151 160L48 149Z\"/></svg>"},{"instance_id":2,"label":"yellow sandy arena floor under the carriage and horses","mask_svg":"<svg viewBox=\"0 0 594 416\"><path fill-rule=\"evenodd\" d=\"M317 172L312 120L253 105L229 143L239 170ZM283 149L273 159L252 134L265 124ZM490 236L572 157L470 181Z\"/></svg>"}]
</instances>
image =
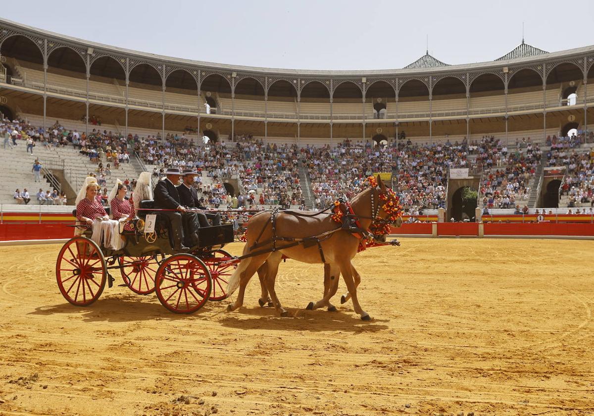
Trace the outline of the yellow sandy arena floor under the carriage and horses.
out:
<instances>
[{"instance_id":1,"label":"yellow sandy arena floor under the carriage and horses","mask_svg":"<svg viewBox=\"0 0 594 416\"><path fill-rule=\"evenodd\" d=\"M277 279L290 318L258 307L256 277L233 313L179 316L119 286L78 308L60 247L0 247L0 414L594 414L594 241L369 249L369 323L338 296L336 313L302 309L323 267L295 261Z\"/></svg>"}]
</instances>

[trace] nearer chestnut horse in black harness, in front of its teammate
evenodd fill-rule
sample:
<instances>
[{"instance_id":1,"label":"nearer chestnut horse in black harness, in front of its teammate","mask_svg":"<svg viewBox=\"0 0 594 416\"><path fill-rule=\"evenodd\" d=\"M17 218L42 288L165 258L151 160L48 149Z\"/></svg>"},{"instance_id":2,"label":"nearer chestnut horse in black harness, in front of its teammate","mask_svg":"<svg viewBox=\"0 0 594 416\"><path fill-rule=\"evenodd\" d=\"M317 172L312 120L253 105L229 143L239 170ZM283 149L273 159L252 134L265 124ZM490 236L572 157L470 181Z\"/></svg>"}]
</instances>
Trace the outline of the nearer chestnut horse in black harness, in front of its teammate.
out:
<instances>
[{"instance_id":1,"label":"nearer chestnut horse in black harness, in front of its teammate","mask_svg":"<svg viewBox=\"0 0 594 416\"><path fill-rule=\"evenodd\" d=\"M351 202L353 213L359 218L360 227L365 230L371 226L372 218L384 220L389 215L380 200L380 196L385 197L388 194L386 185L379 176L377 182L379 184L377 187L367 188L356 195ZM394 203L397 203L397 200ZM280 315L287 316L287 311L280 305L274 291L274 279L276 279L282 256L285 254L293 260L304 263L328 263L331 277L334 276L334 279L337 279L342 274L356 313L363 320L370 319L369 314L359 305L356 285L353 281L354 268L351 260L357 253L359 237L345 229L337 229L337 224L331 216L299 216L282 212L274 215L269 212L261 212L249 219L247 229L247 242L243 254L249 257L241 260L229 280L229 295L239 287L238 297L233 304L229 304L229 311L241 307L249 279L267 261L268 270L264 281L268 293ZM319 247L318 244L291 244L293 239L307 239L320 235L326 235L326 237L321 237ZM277 238L276 242L273 242L273 237ZM336 288L333 287L326 291L320 302L329 303L328 300L336 293Z\"/></svg>"}]
</instances>

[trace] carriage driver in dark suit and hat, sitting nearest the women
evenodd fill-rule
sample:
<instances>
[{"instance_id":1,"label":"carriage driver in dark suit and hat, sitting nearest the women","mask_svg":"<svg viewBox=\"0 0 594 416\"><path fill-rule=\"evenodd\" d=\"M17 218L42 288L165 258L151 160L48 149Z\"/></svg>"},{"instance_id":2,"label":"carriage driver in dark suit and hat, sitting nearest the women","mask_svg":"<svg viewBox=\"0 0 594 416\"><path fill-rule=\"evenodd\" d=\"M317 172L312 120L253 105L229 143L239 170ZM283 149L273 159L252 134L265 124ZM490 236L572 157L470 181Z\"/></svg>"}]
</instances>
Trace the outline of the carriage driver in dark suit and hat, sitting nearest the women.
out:
<instances>
[{"instance_id":1,"label":"carriage driver in dark suit and hat, sitting nearest the women","mask_svg":"<svg viewBox=\"0 0 594 416\"><path fill-rule=\"evenodd\" d=\"M169 218L171 222L171 233L173 238L173 250L175 251L189 251L188 247L185 247L184 243L184 227L182 223L182 215L190 216L189 222L196 222L195 214L187 212L185 207L181 204L179 198L178 188L176 185L179 183L181 177L181 171L179 168L168 168L165 172L166 178L162 181L157 182L154 187L154 207L156 209L164 209L161 214ZM194 236L188 236L191 239ZM195 243L195 241L192 241Z\"/></svg>"}]
</instances>

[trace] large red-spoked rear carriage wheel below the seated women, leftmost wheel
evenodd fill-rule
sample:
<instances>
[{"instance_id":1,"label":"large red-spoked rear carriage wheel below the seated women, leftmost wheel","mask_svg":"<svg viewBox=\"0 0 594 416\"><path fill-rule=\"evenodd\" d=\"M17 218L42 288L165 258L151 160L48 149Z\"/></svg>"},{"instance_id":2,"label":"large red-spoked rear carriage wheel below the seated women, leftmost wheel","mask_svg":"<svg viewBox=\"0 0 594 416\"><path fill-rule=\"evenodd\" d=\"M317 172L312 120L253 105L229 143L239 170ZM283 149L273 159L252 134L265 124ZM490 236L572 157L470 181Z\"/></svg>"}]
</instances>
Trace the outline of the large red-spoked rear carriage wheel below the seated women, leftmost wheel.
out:
<instances>
[{"instance_id":1,"label":"large red-spoked rear carriage wheel below the seated women, leftmost wheel","mask_svg":"<svg viewBox=\"0 0 594 416\"><path fill-rule=\"evenodd\" d=\"M99 246L86 237L69 239L56 260L56 280L62 296L73 305L88 306L99 299L107 281Z\"/></svg>"}]
</instances>

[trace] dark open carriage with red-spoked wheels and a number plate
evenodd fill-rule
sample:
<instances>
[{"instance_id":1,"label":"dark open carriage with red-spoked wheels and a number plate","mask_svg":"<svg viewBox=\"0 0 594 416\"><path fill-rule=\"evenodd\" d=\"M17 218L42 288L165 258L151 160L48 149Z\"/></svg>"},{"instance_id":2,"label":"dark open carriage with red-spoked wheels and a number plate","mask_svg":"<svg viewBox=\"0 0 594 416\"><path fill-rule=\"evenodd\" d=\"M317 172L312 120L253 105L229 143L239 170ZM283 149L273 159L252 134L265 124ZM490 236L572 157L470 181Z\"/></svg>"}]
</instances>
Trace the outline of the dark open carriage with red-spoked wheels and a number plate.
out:
<instances>
[{"instance_id":1,"label":"dark open carriage with red-spoked wheels and a number plate","mask_svg":"<svg viewBox=\"0 0 594 416\"><path fill-rule=\"evenodd\" d=\"M189 253L173 250L171 225L153 201L141 201L138 218L131 221L134 231L122 231L124 247L100 247L91 231L64 244L56 261L56 279L64 298L73 305L87 306L96 301L115 278L110 270L119 269L132 292L156 292L159 301L175 313L193 313L207 300L227 297L228 278L236 264L223 246L233 241L232 223L200 228L198 245ZM75 212L73 213L75 215ZM148 219L147 219L148 218ZM154 227L147 226L153 222Z\"/></svg>"}]
</instances>

